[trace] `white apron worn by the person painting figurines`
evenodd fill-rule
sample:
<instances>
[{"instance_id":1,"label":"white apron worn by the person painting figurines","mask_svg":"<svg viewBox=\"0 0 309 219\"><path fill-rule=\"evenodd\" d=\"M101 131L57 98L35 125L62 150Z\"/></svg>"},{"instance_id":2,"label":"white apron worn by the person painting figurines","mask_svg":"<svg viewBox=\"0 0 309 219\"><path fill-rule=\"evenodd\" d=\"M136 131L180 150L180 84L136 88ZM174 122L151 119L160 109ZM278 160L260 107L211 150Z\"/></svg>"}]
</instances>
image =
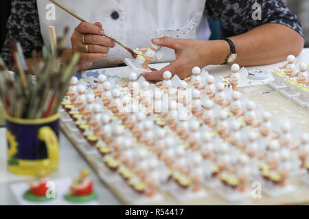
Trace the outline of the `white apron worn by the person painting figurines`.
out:
<instances>
[{"instance_id":1,"label":"white apron worn by the person painting figurines","mask_svg":"<svg viewBox=\"0 0 309 219\"><path fill-rule=\"evenodd\" d=\"M49 42L48 26L56 28L56 35L62 36L63 29L69 27L66 47L71 48L70 38L74 28L80 21L55 8L55 20L49 16L49 0L36 1L40 18L41 34L45 42ZM100 22L106 34L119 40L131 49L149 47L152 38L170 36L173 38L190 38L208 40L210 30L207 19L203 16L206 0L58 0L72 12L84 20ZM112 18L117 12L119 18ZM174 60L174 51L166 50L158 62ZM130 53L116 45L110 49L105 60L93 64L93 68L115 66L123 63Z\"/></svg>"}]
</instances>

